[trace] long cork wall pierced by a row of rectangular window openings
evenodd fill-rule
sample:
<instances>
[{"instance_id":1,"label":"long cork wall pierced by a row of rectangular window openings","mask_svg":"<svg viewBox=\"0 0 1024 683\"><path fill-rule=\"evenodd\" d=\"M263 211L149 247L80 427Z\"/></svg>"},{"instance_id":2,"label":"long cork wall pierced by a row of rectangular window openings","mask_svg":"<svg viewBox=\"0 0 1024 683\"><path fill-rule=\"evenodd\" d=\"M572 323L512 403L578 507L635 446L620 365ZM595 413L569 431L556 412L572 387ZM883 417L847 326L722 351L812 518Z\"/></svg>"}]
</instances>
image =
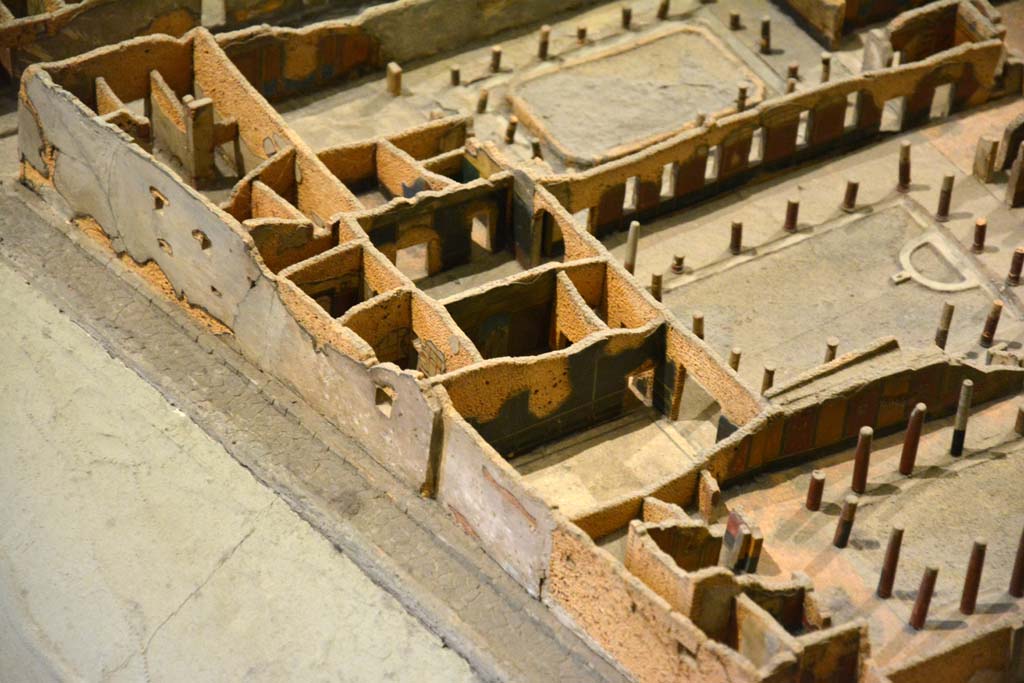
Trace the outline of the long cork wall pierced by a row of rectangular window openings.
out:
<instances>
[{"instance_id":1,"label":"long cork wall pierced by a row of rectangular window openings","mask_svg":"<svg viewBox=\"0 0 1024 683\"><path fill-rule=\"evenodd\" d=\"M727 191L758 173L777 171L838 147L873 138L883 108L903 99L905 128L926 122L936 88L952 86L952 109L987 101L996 87L1004 56L998 39L966 43L898 68L831 81L806 91L769 99L760 105L711 121L646 151L588 171L542 180L570 213L589 210L589 229L602 236L631 219L647 220ZM847 124L847 104L855 114ZM760 130L760 156L752 160ZM803 131L803 132L802 132ZM709 157L717 159L708 176ZM662 195L670 167L672 187ZM626 184L635 180L636 207L624 209Z\"/></svg>"}]
</instances>

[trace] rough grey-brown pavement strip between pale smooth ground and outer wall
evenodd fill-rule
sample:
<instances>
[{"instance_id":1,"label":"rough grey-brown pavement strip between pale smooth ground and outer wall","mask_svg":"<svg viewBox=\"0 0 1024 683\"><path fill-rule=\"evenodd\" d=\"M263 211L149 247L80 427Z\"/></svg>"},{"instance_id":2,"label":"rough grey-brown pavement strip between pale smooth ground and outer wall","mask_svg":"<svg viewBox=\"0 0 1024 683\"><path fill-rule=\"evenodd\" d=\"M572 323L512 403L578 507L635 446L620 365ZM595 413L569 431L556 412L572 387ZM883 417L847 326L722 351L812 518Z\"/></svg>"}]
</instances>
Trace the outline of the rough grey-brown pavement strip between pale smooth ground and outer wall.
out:
<instances>
[{"instance_id":1,"label":"rough grey-brown pavement strip between pale smooth ground and outer wall","mask_svg":"<svg viewBox=\"0 0 1024 683\"><path fill-rule=\"evenodd\" d=\"M246 364L230 342L198 329L147 284L126 276L120 262L101 253L105 263L97 261L87 238L70 232L81 243L76 246L25 202L46 211L20 187L0 193L0 255L271 485L478 676L625 680L529 598L436 503L399 484L294 394Z\"/></svg>"}]
</instances>

